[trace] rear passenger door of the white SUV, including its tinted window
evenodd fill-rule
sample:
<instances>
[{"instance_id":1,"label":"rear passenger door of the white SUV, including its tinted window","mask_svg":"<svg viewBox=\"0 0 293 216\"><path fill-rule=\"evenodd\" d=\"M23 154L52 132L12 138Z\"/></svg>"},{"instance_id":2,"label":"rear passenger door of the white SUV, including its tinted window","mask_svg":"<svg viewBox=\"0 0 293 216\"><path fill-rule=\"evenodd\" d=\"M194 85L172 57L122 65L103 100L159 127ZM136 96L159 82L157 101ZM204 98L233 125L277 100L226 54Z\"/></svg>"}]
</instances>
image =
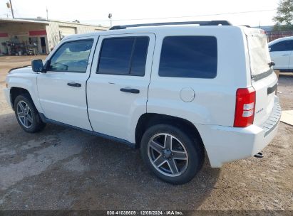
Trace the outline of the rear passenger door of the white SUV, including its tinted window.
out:
<instances>
[{"instance_id":1,"label":"rear passenger door of the white SUV, including its tinted window","mask_svg":"<svg viewBox=\"0 0 293 216\"><path fill-rule=\"evenodd\" d=\"M88 115L93 130L134 142L146 112L155 35L102 36L88 80Z\"/></svg>"}]
</instances>

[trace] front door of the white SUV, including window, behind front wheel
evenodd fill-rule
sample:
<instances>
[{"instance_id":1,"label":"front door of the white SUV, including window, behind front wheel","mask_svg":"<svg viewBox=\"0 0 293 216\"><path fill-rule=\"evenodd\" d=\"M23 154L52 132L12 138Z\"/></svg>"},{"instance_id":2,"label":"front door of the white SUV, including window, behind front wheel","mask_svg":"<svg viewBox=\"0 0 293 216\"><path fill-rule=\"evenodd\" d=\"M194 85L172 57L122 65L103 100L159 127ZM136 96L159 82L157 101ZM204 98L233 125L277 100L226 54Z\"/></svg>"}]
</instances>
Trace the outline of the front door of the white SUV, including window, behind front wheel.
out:
<instances>
[{"instance_id":1,"label":"front door of the white SUV, including window, behind front wheel","mask_svg":"<svg viewBox=\"0 0 293 216\"><path fill-rule=\"evenodd\" d=\"M65 41L37 77L38 97L46 118L91 129L86 105L86 80L97 39Z\"/></svg>"}]
</instances>

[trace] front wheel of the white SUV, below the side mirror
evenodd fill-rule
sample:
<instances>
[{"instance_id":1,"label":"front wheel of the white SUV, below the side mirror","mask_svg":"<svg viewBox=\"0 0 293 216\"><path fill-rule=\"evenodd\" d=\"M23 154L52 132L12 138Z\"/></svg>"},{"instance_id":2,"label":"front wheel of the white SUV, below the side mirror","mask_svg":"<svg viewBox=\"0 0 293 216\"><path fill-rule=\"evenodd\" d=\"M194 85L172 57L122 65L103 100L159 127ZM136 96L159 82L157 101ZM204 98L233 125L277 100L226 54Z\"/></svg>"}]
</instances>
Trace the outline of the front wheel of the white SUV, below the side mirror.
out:
<instances>
[{"instance_id":1,"label":"front wheel of the white SUV, below the side mirror","mask_svg":"<svg viewBox=\"0 0 293 216\"><path fill-rule=\"evenodd\" d=\"M19 125L26 132L35 133L46 126L46 123L41 121L34 102L27 94L16 97L14 100L14 112Z\"/></svg>"}]
</instances>

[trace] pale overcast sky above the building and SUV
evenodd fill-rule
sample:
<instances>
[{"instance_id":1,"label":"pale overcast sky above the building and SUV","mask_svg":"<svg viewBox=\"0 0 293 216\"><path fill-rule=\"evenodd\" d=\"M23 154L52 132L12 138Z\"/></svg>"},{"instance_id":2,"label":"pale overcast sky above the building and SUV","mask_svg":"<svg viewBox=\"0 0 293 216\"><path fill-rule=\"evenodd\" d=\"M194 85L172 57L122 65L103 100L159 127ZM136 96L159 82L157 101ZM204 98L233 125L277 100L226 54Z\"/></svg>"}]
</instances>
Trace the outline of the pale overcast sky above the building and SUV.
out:
<instances>
[{"instance_id":1,"label":"pale overcast sky above the building and SUV","mask_svg":"<svg viewBox=\"0 0 293 216\"><path fill-rule=\"evenodd\" d=\"M0 0L0 18L11 18L6 2ZM227 20L235 25L271 26L279 0L11 0L14 16L41 16L61 21L75 21L110 26L112 24L168 21Z\"/></svg>"}]
</instances>

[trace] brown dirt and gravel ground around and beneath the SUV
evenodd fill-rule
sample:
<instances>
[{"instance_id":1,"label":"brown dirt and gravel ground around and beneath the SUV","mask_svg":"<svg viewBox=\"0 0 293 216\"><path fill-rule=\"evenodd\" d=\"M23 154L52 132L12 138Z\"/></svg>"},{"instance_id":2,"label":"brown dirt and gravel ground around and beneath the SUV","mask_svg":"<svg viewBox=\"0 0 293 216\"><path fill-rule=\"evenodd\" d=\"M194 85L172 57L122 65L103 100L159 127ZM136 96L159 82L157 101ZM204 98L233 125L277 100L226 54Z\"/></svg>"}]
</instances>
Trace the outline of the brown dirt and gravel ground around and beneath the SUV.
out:
<instances>
[{"instance_id":1,"label":"brown dirt and gravel ground around and beneath the SUV","mask_svg":"<svg viewBox=\"0 0 293 216\"><path fill-rule=\"evenodd\" d=\"M0 210L293 211L293 126L280 124L264 158L221 169L206 162L190 183L170 185L123 144L53 124L22 131L2 90L9 68L30 60L0 58ZM278 90L282 109L293 109L292 73L280 75Z\"/></svg>"}]
</instances>

